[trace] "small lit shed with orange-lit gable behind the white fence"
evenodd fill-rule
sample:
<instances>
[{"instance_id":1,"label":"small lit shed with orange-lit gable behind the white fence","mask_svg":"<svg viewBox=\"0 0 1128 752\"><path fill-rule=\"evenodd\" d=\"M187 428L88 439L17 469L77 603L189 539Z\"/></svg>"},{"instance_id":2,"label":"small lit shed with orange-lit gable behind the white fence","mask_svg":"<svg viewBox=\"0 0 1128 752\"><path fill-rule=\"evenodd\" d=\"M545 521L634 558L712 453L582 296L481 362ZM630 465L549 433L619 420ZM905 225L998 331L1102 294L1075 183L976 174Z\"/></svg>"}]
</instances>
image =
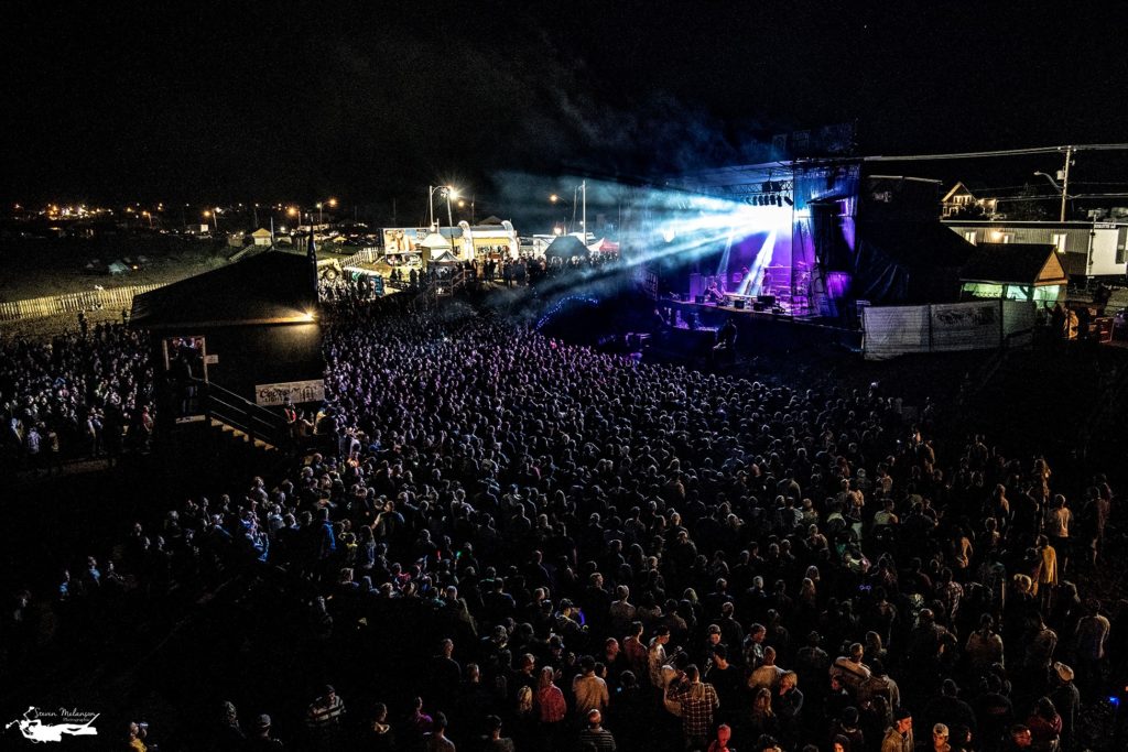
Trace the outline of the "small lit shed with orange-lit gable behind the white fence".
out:
<instances>
[{"instance_id":1,"label":"small lit shed with orange-lit gable behind the white fence","mask_svg":"<svg viewBox=\"0 0 1128 752\"><path fill-rule=\"evenodd\" d=\"M1069 280L1049 244L984 242L960 271L961 297L1055 303Z\"/></svg>"}]
</instances>

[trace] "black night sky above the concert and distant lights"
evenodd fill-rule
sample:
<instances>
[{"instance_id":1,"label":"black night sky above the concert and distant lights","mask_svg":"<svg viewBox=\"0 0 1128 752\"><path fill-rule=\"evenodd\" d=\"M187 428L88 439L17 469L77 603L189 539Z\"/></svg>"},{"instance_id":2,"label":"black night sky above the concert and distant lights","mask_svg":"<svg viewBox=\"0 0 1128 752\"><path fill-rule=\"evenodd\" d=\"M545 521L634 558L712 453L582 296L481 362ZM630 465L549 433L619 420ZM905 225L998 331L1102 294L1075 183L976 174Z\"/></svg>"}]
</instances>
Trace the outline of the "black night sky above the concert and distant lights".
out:
<instances>
[{"instance_id":1,"label":"black night sky above the concert and distant lights","mask_svg":"<svg viewBox=\"0 0 1128 752\"><path fill-rule=\"evenodd\" d=\"M164 5L6 3L7 200L488 204L502 174L652 176L854 121L862 153L1128 141L1126 19L1095 3Z\"/></svg>"}]
</instances>

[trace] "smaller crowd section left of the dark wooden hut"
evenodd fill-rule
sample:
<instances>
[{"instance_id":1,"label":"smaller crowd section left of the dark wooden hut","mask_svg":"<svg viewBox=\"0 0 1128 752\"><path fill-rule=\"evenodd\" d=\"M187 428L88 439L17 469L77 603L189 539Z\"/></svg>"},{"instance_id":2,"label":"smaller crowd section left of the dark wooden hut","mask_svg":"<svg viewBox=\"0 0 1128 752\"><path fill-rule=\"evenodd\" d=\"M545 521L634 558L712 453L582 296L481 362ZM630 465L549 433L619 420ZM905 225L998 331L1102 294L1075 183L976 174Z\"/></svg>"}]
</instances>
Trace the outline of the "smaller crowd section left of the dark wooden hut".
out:
<instances>
[{"instance_id":1,"label":"smaller crowd section left of the dark wooden hut","mask_svg":"<svg viewBox=\"0 0 1128 752\"><path fill-rule=\"evenodd\" d=\"M147 449L153 427L146 339L124 324L49 342L0 339L0 466L54 472L72 458Z\"/></svg>"}]
</instances>

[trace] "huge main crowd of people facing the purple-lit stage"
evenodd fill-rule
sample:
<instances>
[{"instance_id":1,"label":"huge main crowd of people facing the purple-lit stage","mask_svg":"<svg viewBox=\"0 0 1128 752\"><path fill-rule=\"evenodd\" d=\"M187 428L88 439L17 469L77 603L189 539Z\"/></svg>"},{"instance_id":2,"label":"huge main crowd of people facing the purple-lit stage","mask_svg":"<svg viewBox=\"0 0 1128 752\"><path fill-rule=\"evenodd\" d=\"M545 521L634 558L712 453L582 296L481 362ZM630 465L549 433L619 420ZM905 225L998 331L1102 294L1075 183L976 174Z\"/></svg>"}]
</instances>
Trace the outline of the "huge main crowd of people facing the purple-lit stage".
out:
<instances>
[{"instance_id":1,"label":"huge main crowd of people facing the purple-lit stage","mask_svg":"<svg viewBox=\"0 0 1128 752\"><path fill-rule=\"evenodd\" d=\"M296 653L351 652L303 731L213 698L212 749L1074 752L1126 675L1128 604L1085 589L1102 476L938 445L878 386L641 364L458 303L325 322L336 451L120 547L150 598L268 572Z\"/></svg>"}]
</instances>

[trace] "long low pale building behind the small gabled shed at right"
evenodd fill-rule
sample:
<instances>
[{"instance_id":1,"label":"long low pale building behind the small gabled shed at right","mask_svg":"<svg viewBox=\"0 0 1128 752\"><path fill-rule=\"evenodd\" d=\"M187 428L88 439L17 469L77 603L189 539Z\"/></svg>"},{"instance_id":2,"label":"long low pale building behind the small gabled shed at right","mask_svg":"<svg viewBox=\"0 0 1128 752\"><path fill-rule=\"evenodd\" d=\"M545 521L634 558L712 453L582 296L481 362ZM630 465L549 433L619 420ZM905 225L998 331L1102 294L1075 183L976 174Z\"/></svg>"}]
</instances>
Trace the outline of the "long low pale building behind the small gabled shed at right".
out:
<instances>
[{"instance_id":1,"label":"long low pale building behind the small gabled shed at right","mask_svg":"<svg viewBox=\"0 0 1128 752\"><path fill-rule=\"evenodd\" d=\"M1108 222L1007 222L1005 220L945 220L949 230L972 245L1050 245L1073 278L1123 280L1128 255L1128 219Z\"/></svg>"}]
</instances>

